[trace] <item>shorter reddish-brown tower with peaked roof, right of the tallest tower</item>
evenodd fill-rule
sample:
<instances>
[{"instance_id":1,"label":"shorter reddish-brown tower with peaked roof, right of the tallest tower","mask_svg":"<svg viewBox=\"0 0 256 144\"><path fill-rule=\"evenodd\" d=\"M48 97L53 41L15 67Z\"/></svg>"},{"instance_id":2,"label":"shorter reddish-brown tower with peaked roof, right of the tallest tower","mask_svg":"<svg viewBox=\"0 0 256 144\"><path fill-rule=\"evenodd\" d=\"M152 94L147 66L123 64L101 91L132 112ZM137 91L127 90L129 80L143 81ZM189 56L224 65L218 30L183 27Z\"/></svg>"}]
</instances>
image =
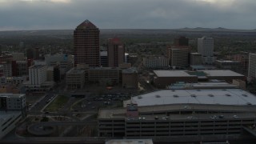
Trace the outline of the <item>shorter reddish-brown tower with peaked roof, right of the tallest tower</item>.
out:
<instances>
[{"instance_id":1,"label":"shorter reddish-brown tower with peaked roof, right of the tallest tower","mask_svg":"<svg viewBox=\"0 0 256 144\"><path fill-rule=\"evenodd\" d=\"M109 67L118 67L125 62L125 47L119 38L110 38L107 43L107 57Z\"/></svg>"}]
</instances>

